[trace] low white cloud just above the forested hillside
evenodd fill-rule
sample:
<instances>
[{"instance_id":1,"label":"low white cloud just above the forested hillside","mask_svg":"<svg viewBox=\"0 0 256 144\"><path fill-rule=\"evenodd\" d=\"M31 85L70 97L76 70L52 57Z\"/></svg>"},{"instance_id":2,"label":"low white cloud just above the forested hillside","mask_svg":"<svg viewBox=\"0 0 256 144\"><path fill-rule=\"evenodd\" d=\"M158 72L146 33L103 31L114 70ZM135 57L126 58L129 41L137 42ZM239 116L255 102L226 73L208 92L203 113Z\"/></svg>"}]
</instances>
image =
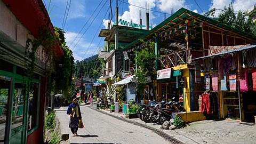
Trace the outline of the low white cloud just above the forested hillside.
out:
<instances>
[{"instance_id":1,"label":"low white cloud just above the forested hillside","mask_svg":"<svg viewBox=\"0 0 256 144\"><path fill-rule=\"evenodd\" d=\"M75 39L76 36L77 36L77 33L73 33L70 31L67 31L65 33L67 45L71 50L73 49L75 44L78 42L79 38L81 37L81 35L78 35L76 38L76 41L74 41L73 44L70 46L70 44L72 43L73 39ZM77 60L81 61L87 57L90 57L91 55L97 54L97 51L95 51L95 49L98 49L98 47L96 47L97 45L94 43L90 45L90 43L91 42L87 42L85 38L81 38L81 40L77 43L76 47L73 49L73 56L75 58L75 61Z\"/></svg>"}]
</instances>

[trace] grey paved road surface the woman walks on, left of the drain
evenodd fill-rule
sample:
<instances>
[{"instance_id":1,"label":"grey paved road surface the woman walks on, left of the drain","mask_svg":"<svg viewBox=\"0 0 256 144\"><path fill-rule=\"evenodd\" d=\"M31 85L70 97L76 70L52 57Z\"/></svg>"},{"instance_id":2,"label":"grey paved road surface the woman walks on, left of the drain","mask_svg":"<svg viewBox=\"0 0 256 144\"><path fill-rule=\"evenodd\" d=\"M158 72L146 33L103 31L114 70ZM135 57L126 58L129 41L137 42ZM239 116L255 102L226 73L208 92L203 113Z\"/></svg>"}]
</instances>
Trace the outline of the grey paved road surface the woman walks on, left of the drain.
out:
<instances>
[{"instance_id":1,"label":"grey paved road surface the woman walks on, left of the drain","mask_svg":"<svg viewBox=\"0 0 256 144\"><path fill-rule=\"evenodd\" d=\"M78 130L79 137L71 137L66 109L67 107L61 107L55 110L61 131L70 135L70 143L169 143L148 129L101 114L86 106L81 106L85 128Z\"/></svg>"}]
</instances>

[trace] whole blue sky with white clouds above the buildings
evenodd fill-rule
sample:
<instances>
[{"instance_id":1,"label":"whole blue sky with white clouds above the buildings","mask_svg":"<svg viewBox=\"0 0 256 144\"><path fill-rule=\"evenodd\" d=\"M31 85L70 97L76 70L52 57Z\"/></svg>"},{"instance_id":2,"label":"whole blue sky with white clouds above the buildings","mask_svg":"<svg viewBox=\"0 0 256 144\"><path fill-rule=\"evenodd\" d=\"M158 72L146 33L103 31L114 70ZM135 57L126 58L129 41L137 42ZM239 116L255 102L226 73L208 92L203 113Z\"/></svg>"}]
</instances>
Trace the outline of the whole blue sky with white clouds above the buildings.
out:
<instances>
[{"instance_id":1,"label":"whole blue sky with white clouds above the buildings","mask_svg":"<svg viewBox=\"0 0 256 144\"><path fill-rule=\"evenodd\" d=\"M75 61L98 54L105 42L98 37L100 29L107 28L112 17L115 21L116 0L43 0L53 26L65 31L69 49L73 51ZM147 4L146 4L147 3ZM199 14L203 14L214 7L233 3L234 11L247 11L255 0L118 0L119 19L139 23L140 11L142 25L145 25L145 8L149 7L150 26L154 27L170 17L171 9L174 13L181 7ZM142 7L142 8L141 8ZM216 16L218 17L217 11ZM166 13L166 14L164 14ZM110 15L110 18L109 18ZM165 16L164 16L165 15Z\"/></svg>"}]
</instances>

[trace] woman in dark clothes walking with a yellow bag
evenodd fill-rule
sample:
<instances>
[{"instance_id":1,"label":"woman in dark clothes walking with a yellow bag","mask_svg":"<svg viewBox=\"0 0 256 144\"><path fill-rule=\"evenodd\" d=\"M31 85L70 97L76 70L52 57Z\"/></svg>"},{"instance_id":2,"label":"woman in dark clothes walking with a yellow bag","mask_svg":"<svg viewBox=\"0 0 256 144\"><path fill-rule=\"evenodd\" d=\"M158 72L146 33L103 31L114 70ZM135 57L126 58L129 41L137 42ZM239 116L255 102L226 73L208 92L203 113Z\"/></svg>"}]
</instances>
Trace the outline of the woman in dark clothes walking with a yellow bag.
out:
<instances>
[{"instance_id":1,"label":"woman in dark clothes walking with a yellow bag","mask_svg":"<svg viewBox=\"0 0 256 144\"><path fill-rule=\"evenodd\" d=\"M79 120L82 119L81 110L77 103L77 99L73 99L72 103L68 107L67 114L70 116L69 127L73 133L73 137L76 137Z\"/></svg>"}]
</instances>

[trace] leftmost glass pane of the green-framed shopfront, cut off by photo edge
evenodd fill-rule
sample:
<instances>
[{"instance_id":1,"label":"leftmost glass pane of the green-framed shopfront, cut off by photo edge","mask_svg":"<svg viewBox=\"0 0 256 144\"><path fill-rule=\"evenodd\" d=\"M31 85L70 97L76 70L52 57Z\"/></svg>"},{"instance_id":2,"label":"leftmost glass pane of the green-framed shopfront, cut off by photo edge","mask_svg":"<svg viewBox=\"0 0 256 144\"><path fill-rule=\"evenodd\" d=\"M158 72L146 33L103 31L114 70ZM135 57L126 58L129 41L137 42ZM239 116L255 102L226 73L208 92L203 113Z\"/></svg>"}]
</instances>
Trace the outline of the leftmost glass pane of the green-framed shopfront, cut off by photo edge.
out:
<instances>
[{"instance_id":1,"label":"leftmost glass pane of the green-framed shopfront, cut off by photo edge","mask_svg":"<svg viewBox=\"0 0 256 144\"><path fill-rule=\"evenodd\" d=\"M0 76L0 143L4 143L7 102L10 93L11 78Z\"/></svg>"}]
</instances>

